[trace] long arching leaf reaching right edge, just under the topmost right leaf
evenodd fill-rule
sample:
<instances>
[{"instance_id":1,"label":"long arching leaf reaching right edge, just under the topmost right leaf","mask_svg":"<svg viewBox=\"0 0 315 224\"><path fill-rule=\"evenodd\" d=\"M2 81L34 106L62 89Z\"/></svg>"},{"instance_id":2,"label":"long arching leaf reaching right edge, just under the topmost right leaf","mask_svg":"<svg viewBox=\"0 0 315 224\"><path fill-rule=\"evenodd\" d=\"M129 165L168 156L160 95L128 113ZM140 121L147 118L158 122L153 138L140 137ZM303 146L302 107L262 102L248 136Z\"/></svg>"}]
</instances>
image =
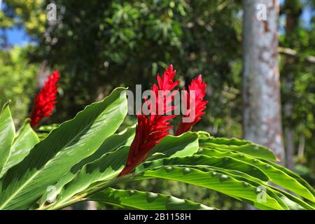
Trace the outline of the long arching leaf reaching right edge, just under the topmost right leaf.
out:
<instances>
[{"instance_id":1,"label":"long arching leaf reaching right edge, just under the topmost right leaf","mask_svg":"<svg viewBox=\"0 0 315 224\"><path fill-rule=\"evenodd\" d=\"M294 174L288 169L276 165L273 162L258 160L242 153L216 151L213 148L202 148L200 151L198 151L197 154L216 156L221 158L225 158L228 156L230 158L236 158L237 160L247 162L262 170L262 172L264 172L268 176L270 181L276 183L278 186L286 188L293 193L296 193L297 195L301 195L311 202L315 201L314 190L311 188L311 186L309 186L308 183L306 183L306 181L300 178L300 176L297 176L297 174Z\"/></svg>"}]
</instances>

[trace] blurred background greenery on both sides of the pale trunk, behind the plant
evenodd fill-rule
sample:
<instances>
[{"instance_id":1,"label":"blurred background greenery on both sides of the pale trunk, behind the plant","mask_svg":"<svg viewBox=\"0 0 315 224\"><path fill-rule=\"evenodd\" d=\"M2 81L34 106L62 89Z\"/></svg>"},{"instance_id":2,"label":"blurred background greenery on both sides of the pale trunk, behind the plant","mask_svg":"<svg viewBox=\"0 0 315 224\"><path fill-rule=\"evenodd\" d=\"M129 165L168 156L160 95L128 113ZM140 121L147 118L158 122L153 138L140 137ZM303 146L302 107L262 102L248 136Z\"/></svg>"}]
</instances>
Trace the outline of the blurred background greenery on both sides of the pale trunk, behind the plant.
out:
<instances>
[{"instance_id":1,"label":"blurred background greenery on both sides of the pale trunk, behind the plant","mask_svg":"<svg viewBox=\"0 0 315 224\"><path fill-rule=\"evenodd\" d=\"M242 137L241 1L54 1L57 22L46 20L50 1L6 0L0 10L0 104L11 99L17 124L29 115L31 100L49 69L62 75L57 109L45 123L61 123L113 87L155 80L174 64L186 85L198 73L207 81L207 116L195 130L216 137ZM281 48L297 52L292 62L281 56L283 129L293 132L294 164L315 186L315 1L281 1ZM307 19L305 19L307 12ZM294 18L288 32L286 18ZM24 29L26 45L9 43L8 29ZM286 88L288 80L292 88ZM134 122L129 116L126 123ZM285 141L286 142L286 141ZM241 202L218 193L170 181L143 181L139 190L172 193L221 209L241 209ZM102 207L103 208L103 207Z\"/></svg>"}]
</instances>

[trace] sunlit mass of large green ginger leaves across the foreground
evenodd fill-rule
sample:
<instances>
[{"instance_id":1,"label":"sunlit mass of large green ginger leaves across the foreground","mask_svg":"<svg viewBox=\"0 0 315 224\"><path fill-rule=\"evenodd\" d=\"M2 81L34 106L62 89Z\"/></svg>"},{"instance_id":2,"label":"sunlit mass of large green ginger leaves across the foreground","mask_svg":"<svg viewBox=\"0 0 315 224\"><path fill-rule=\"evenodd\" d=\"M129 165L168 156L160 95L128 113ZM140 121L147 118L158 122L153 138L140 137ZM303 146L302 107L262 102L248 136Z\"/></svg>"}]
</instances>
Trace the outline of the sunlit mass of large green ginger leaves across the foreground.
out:
<instances>
[{"instance_id":1,"label":"sunlit mass of large green ginger leaves across the foreground","mask_svg":"<svg viewBox=\"0 0 315 224\"><path fill-rule=\"evenodd\" d=\"M28 121L14 139L6 104L0 117L0 138L6 143L0 159L8 165L0 176L0 209L62 209L85 200L125 209L214 209L171 195L116 189L148 179L215 190L258 209L315 209L314 189L269 161L275 157L268 148L207 132L165 137L132 173L118 176L134 136L134 127L115 134L127 114L123 90L116 88L102 102L53 127L39 142Z\"/></svg>"}]
</instances>

